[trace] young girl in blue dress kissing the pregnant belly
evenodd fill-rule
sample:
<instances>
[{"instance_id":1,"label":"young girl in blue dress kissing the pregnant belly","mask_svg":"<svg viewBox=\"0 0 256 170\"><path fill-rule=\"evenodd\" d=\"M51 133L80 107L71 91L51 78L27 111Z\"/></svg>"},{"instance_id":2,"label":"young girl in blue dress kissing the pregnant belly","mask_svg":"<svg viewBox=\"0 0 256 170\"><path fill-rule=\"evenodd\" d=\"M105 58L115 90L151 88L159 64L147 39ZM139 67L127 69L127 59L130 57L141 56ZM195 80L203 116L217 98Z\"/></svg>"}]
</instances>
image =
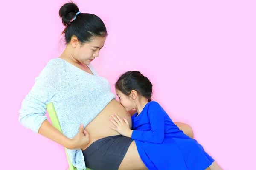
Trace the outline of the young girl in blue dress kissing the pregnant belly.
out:
<instances>
[{"instance_id":1,"label":"young girl in blue dress kissing the pregnant belly","mask_svg":"<svg viewBox=\"0 0 256 170\"><path fill-rule=\"evenodd\" d=\"M135 140L140 158L149 170L210 170L214 162L194 139L185 135L157 102L151 102L152 84L138 71L128 71L116 82L119 102L137 110L128 121L112 115L110 127Z\"/></svg>"}]
</instances>

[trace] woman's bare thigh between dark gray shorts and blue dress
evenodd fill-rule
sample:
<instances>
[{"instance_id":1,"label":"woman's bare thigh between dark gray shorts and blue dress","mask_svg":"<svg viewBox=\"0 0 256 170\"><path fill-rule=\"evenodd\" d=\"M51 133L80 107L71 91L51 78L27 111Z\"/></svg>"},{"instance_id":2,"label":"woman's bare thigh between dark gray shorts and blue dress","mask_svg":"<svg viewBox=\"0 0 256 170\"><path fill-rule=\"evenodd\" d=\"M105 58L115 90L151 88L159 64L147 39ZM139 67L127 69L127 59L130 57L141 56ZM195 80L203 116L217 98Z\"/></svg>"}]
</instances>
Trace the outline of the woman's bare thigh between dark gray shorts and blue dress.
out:
<instances>
[{"instance_id":1,"label":"woman's bare thigh between dark gray shorts and blue dress","mask_svg":"<svg viewBox=\"0 0 256 170\"><path fill-rule=\"evenodd\" d=\"M135 141L131 142L131 145L118 170L147 170L147 167L140 159Z\"/></svg>"}]
</instances>

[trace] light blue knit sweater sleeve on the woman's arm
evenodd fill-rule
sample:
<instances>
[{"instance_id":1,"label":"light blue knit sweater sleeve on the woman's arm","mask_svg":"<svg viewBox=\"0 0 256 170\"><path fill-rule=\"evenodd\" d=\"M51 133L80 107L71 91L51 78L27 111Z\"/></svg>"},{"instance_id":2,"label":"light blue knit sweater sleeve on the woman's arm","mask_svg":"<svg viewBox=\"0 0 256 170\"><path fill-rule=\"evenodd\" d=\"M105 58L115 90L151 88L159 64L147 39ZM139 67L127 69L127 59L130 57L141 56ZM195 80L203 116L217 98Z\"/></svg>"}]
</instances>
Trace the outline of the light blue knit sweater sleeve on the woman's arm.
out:
<instances>
[{"instance_id":1,"label":"light blue knit sweater sleeve on the woman's arm","mask_svg":"<svg viewBox=\"0 0 256 170\"><path fill-rule=\"evenodd\" d=\"M35 78L35 84L21 104L19 122L35 133L44 120L46 105L53 102L54 97L63 88L64 63L60 59L50 60L46 67Z\"/></svg>"}]
</instances>

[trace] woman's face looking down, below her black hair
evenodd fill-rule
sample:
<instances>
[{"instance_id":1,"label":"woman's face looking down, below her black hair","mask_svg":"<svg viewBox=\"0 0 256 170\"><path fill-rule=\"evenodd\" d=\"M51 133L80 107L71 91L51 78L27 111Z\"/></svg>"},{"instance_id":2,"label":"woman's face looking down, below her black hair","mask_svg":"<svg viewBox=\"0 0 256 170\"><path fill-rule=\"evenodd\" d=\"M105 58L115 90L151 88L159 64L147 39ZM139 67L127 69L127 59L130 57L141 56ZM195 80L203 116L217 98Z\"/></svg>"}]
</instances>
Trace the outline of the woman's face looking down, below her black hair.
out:
<instances>
[{"instance_id":1,"label":"woman's face looking down, below her black hair","mask_svg":"<svg viewBox=\"0 0 256 170\"><path fill-rule=\"evenodd\" d=\"M74 58L83 64L90 64L95 57L99 57L99 51L104 46L105 40L106 37L94 37L90 42L84 44L79 42L74 51Z\"/></svg>"}]
</instances>

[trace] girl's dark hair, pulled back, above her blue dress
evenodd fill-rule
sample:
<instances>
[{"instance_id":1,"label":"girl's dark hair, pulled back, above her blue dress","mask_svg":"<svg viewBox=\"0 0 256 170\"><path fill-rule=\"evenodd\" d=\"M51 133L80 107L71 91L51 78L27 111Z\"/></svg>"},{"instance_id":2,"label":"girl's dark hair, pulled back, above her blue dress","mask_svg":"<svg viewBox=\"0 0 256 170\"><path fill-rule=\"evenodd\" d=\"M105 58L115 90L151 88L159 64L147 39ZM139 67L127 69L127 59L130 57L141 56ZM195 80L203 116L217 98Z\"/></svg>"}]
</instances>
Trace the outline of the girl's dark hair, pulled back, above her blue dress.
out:
<instances>
[{"instance_id":1,"label":"girl's dark hair, pulled back, above her blue dress","mask_svg":"<svg viewBox=\"0 0 256 170\"><path fill-rule=\"evenodd\" d=\"M131 91L135 90L141 96L146 97L148 102L151 102L152 86L149 79L139 71L127 71L116 82L116 89L126 96L129 96Z\"/></svg>"}]
</instances>

